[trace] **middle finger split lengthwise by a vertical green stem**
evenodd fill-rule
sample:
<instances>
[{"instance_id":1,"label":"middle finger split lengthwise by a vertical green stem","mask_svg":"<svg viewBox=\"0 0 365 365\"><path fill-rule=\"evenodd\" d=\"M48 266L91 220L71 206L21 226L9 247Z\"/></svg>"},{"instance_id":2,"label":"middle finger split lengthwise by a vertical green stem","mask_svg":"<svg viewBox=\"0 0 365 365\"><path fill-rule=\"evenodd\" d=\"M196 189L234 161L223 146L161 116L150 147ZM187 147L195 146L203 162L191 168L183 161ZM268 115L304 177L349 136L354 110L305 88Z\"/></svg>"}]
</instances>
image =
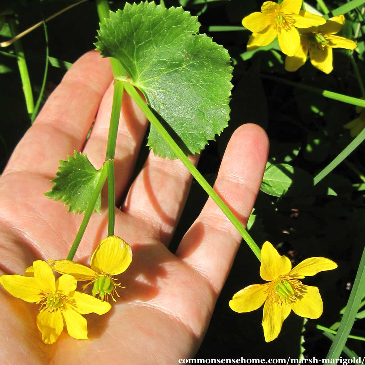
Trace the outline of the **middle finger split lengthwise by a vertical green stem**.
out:
<instances>
[{"instance_id":1,"label":"middle finger split lengthwise by a vertical green stem","mask_svg":"<svg viewBox=\"0 0 365 365\"><path fill-rule=\"evenodd\" d=\"M89 160L97 169L101 168L105 161L113 91L114 83L109 86L101 101L91 136L83 151L87 153ZM133 172L147 125L145 115L131 97L124 92L114 158L115 194L117 201L124 192Z\"/></svg>"}]
</instances>

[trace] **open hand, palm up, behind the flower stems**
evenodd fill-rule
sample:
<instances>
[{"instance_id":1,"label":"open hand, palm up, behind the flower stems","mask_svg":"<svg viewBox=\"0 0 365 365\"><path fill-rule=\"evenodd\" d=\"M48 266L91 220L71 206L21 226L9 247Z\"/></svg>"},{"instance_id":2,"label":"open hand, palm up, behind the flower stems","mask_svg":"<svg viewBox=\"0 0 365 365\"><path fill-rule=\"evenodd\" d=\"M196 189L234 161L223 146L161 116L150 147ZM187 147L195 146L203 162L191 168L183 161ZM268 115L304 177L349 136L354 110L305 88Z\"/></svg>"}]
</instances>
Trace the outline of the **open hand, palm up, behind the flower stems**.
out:
<instances>
[{"instance_id":1,"label":"open hand, palm up, behind the flower stems","mask_svg":"<svg viewBox=\"0 0 365 365\"><path fill-rule=\"evenodd\" d=\"M52 187L58 160L66 160L74 150L87 153L96 168L103 164L112 88L110 61L88 52L67 72L16 147L0 178L1 274L24 274L34 260L67 256L82 215L67 213L64 204L43 193ZM1 287L2 365L170 365L196 353L241 235L208 199L176 255L168 250L192 178L180 161L162 160L150 152L138 177L130 180L147 125L124 93L115 155L116 199L122 208L116 208L115 234L131 245L133 261L118 276L126 286L119 289L121 298L107 314L85 316L92 341L73 339L64 330L56 343L45 345L36 324L39 306ZM215 190L243 224L260 188L267 155L266 134L254 124L239 127L224 154ZM198 156L191 159L196 164ZM74 259L83 264L107 236L105 197L103 190L101 215L92 215ZM258 268L254 254L242 249ZM238 284L241 288L247 283ZM232 320L236 315L232 313Z\"/></svg>"}]
</instances>

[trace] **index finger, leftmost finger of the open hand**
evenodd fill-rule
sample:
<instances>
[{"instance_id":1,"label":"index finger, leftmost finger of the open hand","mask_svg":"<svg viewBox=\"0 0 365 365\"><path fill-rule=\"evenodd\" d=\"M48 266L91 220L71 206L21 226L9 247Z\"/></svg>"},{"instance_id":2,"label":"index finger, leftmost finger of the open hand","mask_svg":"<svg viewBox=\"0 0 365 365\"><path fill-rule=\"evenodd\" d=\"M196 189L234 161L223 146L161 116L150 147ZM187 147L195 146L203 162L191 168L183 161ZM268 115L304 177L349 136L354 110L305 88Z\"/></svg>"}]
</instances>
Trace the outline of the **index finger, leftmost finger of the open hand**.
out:
<instances>
[{"instance_id":1,"label":"index finger, leftmost finger of the open hand","mask_svg":"<svg viewBox=\"0 0 365 365\"><path fill-rule=\"evenodd\" d=\"M110 61L90 51L69 69L26 132L4 171L53 176L59 159L80 151L112 78Z\"/></svg>"}]
</instances>

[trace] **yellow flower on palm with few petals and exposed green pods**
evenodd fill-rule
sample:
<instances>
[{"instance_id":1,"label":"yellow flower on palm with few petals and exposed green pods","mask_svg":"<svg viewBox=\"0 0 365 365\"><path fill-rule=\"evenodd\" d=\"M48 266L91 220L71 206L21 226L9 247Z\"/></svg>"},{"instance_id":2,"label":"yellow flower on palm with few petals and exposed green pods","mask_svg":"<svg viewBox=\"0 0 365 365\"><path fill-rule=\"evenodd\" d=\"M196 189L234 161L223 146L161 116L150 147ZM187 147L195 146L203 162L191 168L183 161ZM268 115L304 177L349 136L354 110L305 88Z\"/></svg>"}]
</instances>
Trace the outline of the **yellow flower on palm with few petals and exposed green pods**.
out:
<instances>
[{"instance_id":1,"label":"yellow flower on palm with few petals and exposed green pods","mask_svg":"<svg viewBox=\"0 0 365 365\"><path fill-rule=\"evenodd\" d=\"M48 260L48 263L60 274L70 274L77 281L90 281L83 288L94 284L93 296L99 295L101 300L104 300L107 294L108 300L110 294L116 301L113 294L119 297L116 287L120 287L120 283L116 283L118 279L113 276L124 272L131 261L132 250L128 243L117 236L110 236L104 238L96 247L90 260L91 268L70 260Z\"/></svg>"}]
</instances>

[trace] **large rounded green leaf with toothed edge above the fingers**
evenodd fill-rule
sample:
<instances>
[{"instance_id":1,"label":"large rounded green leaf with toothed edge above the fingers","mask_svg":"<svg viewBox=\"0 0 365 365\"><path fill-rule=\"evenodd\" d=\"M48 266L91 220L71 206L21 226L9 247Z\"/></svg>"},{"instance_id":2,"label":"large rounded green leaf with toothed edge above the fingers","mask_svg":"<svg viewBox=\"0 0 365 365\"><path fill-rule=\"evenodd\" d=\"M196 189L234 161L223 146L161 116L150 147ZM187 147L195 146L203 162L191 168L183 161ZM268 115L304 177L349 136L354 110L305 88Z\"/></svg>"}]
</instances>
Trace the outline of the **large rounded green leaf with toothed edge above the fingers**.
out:
<instances>
[{"instance_id":1,"label":"large rounded green leaf with toothed edge above the fingers","mask_svg":"<svg viewBox=\"0 0 365 365\"><path fill-rule=\"evenodd\" d=\"M232 84L230 56L183 8L126 4L111 12L95 43L117 58L147 103L185 153L200 152L228 125ZM147 143L161 157L174 153L151 126Z\"/></svg>"}]
</instances>

